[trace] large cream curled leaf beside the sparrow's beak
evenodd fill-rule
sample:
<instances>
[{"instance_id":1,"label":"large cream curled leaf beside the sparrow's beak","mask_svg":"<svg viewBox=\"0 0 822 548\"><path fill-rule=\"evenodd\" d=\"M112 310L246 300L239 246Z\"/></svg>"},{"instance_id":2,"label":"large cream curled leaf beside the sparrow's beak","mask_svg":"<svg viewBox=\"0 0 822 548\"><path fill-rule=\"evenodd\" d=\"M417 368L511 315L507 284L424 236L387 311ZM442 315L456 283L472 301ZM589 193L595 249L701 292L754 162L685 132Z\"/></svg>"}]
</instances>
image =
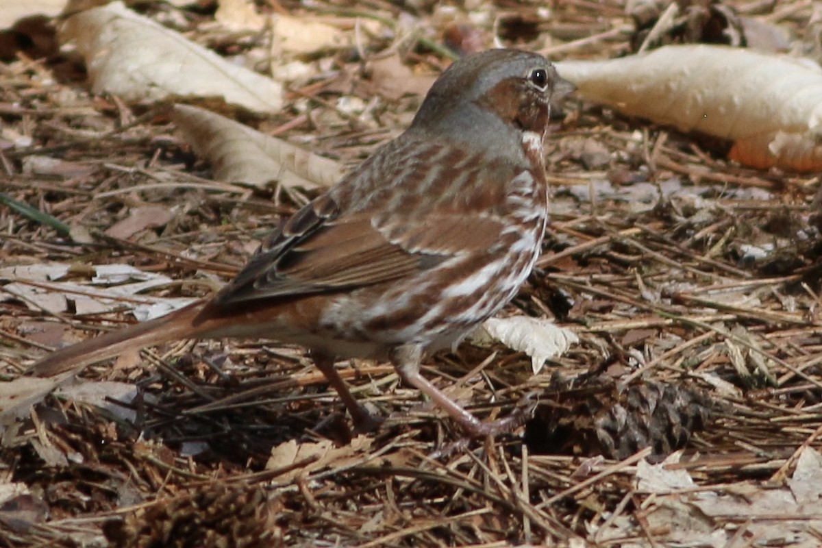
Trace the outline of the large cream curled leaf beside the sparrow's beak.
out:
<instances>
[{"instance_id":1,"label":"large cream curled leaf beside the sparrow's beak","mask_svg":"<svg viewBox=\"0 0 822 548\"><path fill-rule=\"evenodd\" d=\"M822 68L810 60L700 44L556 67L585 99L732 140L738 162L822 169Z\"/></svg>"}]
</instances>

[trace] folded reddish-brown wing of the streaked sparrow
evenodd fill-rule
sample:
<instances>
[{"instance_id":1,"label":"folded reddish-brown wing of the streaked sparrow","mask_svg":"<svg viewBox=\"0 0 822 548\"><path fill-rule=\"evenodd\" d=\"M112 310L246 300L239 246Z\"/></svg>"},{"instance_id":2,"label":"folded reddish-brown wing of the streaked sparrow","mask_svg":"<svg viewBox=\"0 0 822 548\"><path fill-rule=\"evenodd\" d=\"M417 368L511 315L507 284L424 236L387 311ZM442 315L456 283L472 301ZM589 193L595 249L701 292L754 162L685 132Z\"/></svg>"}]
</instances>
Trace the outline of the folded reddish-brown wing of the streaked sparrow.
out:
<instances>
[{"instance_id":1,"label":"folded reddish-brown wing of the streaked sparrow","mask_svg":"<svg viewBox=\"0 0 822 548\"><path fill-rule=\"evenodd\" d=\"M269 237L216 304L296 297L367 287L409 277L462 254L501 245L502 219L453 208L423 214L399 208L386 218L379 205L340 214L321 196ZM492 209L492 208L490 208ZM381 223L375 219L386 218Z\"/></svg>"}]
</instances>

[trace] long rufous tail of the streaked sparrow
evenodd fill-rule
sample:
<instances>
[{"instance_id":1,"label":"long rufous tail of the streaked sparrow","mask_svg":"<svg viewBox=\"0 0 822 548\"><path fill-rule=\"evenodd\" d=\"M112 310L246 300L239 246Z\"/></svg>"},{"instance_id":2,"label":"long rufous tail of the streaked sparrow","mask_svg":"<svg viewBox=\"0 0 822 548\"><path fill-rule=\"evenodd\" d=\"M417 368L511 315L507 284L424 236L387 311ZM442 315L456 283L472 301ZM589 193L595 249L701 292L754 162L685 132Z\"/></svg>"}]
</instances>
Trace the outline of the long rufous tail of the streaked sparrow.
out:
<instances>
[{"instance_id":1,"label":"long rufous tail of the streaked sparrow","mask_svg":"<svg viewBox=\"0 0 822 548\"><path fill-rule=\"evenodd\" d=\"M52 376L72 369L79 371L85 366L129 350L182 338L197 338L203 333L204 325L198 326L195 320L204 307L205 302L195 302L155 320L118 329L62 348L35 363L29 368L29 372L39 376Z\"/></svg>"}]
</instances>

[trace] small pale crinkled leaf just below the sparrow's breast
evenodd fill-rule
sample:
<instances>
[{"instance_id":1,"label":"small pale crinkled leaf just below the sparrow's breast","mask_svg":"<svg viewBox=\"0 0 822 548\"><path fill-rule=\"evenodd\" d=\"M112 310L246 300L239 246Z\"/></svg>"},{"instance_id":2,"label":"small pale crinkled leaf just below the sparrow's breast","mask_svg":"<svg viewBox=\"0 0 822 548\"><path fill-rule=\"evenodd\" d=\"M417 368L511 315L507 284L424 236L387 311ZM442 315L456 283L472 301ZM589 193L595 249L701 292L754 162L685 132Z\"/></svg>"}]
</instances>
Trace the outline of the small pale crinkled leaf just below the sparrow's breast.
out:
<instances>
[{"instance_id":1,"label":"small pale crinkled leaf just below the sparrow's breast","mask_svg":"<svg viewBox=\"0 0 822 548\"><path fill-rule=\"evenodd\" d=\"M534 375L542 371L545 361L561 356L570 345L580 342L573 331L551 320L523 315L490 318L471 335L471 340L479 344L496 340L512 350L525 352L531 357Z\"/></svg>"}]
</instances>

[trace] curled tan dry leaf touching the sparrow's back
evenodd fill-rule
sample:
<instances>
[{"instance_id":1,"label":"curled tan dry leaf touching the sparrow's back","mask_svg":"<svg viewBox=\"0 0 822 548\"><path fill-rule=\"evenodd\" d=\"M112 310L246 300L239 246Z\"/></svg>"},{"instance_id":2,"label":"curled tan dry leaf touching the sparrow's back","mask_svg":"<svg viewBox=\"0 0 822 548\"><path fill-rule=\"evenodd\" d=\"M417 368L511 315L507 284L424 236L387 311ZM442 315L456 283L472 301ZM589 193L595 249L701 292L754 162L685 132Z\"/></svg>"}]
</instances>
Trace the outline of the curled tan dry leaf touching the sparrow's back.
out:
<instances>
[{"instance_id":1,"label":"curled tan dry leaf touching the sparrow's back","mask_svg":"<svg viewBox=\"0 0 822 548\"><path fill-rule=\"evenodd\" d=\"M214 168L215 178L266 187L330 187L345 168L332 159L267 136L205 108L178 104L173 119L186 139Z\"/></svg>"}]
</instances>

